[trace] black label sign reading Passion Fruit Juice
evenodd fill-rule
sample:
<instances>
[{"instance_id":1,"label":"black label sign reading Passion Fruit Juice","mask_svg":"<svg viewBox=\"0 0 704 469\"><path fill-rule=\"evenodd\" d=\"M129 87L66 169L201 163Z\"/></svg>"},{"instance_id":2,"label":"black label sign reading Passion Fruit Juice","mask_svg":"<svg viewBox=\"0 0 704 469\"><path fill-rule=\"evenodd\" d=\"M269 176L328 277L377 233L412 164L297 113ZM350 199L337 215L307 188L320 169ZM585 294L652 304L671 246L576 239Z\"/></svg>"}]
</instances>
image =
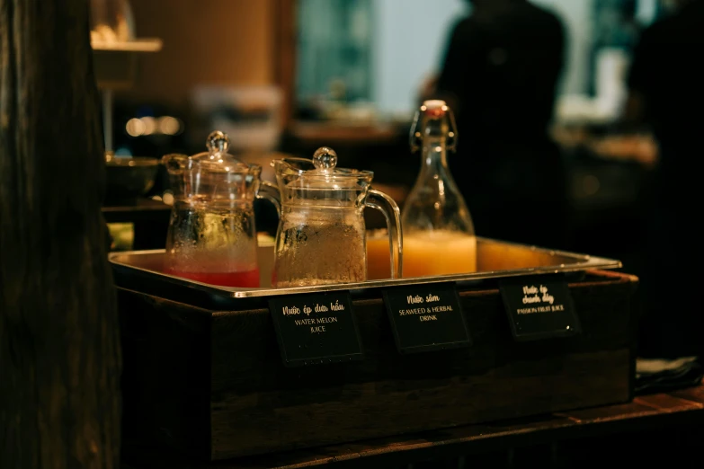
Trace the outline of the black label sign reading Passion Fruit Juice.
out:
<instances>
[{"instance_id":1,"label":"black label sign reading Passion Fruit Juice","mask_svg":"<svg viewBox=\"0 0 704 469\"><path fill-rule=\"evenodd\" d=\"M572 295L563 276L503 279L499 289L516 341L566 337L581 332Z\"/></svg>"}]
</instances>

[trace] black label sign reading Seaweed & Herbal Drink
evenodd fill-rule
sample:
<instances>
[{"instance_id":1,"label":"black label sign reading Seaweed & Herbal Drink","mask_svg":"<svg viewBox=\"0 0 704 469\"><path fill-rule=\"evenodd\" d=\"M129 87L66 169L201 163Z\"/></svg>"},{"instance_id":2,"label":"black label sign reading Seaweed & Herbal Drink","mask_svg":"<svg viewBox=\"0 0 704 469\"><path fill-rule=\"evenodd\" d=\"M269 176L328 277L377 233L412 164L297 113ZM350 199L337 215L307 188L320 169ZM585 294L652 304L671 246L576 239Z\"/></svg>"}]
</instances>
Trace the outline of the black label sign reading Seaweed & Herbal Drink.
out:
<instances>
[{"instance_id":1,"label":"black label sign reading Seaweed & Herbal Drink","mask_svg":"<svg viewBox=\"0 0 704 469\"><path fill-rule=\"evenodd\" d=\"M453 284L388 289L384 291L384 301L401 353L471 344Z\"/></svg>"}]
</instances>

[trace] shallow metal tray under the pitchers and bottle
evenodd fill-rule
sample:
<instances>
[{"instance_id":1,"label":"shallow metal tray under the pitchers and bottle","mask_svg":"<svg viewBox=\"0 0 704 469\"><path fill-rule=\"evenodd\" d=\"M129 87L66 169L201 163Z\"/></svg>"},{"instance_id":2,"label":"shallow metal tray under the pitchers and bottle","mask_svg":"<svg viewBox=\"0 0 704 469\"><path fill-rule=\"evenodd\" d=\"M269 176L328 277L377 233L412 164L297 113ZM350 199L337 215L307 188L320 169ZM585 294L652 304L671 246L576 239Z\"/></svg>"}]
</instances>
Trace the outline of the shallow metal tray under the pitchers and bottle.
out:
<instances>
[{"instance_id":1,"label":"shallow metal tray under the pitchers and bottle","mask_svg":"<svg viewBox=\"0 0 704 469\"><path fill-rule=\"evenodd\" d=\"M368 280L359 283L272 288L273 246L259 246L261 288L228 288L209 285L165 273L165 250L112 252L109 256L119 287L155 296L177 299L187 287L197 296L222 304L227 300L267 296L350 290L352 294L373 288L388 288L440 282L455 282L458 287L477 287L486 280L525 275L564 272L583 275L587 270L619 269L621 262L574 252L562 252L519 243L477 238L477 272L408 279ZM173 295L181 290L182 295ZM195 291L194 291L195 290Z\"/></svg>"}]
</instances>

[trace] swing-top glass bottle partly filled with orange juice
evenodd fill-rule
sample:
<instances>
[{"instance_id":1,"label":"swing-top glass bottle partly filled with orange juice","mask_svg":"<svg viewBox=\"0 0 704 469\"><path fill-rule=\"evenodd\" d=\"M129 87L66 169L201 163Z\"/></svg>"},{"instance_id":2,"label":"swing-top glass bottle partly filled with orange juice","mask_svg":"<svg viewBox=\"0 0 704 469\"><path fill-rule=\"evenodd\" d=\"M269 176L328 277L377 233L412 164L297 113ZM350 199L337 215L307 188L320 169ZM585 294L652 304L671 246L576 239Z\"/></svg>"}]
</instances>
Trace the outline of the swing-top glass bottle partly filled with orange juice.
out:
<instances>
[{"instance_id":1,"label":"swing-top glass bottle partly filled with orange juice","mask_svg":"<svg viewBox=\"0 0 704 469\"><path fill-rule=\"evenodd\" d=\"M421 170L401 211L406 278L477 270L474 224L447 163L457 137L447 104L423 102L410 135L411 150L421 150Z\"/></svg>"}]
</instances>

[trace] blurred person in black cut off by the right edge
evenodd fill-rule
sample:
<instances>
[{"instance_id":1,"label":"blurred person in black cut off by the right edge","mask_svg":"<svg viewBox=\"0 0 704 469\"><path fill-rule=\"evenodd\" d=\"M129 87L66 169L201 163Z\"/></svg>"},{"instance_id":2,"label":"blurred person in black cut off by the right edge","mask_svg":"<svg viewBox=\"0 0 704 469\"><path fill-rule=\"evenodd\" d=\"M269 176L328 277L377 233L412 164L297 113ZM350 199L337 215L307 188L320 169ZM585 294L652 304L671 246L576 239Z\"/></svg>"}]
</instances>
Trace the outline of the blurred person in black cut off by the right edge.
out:
<instances>
[{"instance_id":1,"label":"blurred person in black cut off by the right edge","mask_svg":"<svg viewBox=\"0 0 704 469\"><path fill-rule=\"evenodd\" d=\"M647 27L628 73L625 120L649 128L659 147L646 210L642 358L704 356L700 225L704 128L704 0L668 2Z\"/></svg>"}]
</instances>

